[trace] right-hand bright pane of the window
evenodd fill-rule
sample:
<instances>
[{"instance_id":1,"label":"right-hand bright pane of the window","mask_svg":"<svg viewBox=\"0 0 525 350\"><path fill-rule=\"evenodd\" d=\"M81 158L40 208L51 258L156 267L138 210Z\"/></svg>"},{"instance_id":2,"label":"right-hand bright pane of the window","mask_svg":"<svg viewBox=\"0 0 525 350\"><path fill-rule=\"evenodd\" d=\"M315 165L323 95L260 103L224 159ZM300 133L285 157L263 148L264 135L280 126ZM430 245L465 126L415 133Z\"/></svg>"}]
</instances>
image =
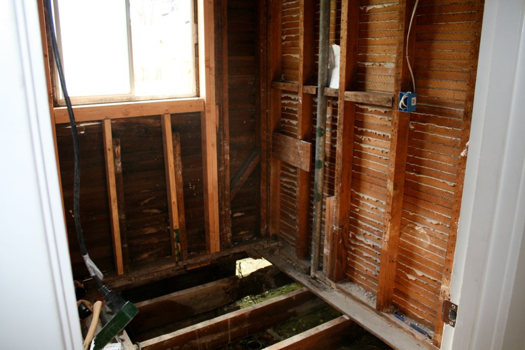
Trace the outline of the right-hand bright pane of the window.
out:
<instances>
[{"instance_id":1,"label":"right-hand bright pane of the window","mask_svg":"<svg viewBox=\"0 0 525 350\"><path fill-rule=\"evenodd\" d=\"M130 0L136 96L195 91L191 0Z\"/></svg>"}]
</instances>

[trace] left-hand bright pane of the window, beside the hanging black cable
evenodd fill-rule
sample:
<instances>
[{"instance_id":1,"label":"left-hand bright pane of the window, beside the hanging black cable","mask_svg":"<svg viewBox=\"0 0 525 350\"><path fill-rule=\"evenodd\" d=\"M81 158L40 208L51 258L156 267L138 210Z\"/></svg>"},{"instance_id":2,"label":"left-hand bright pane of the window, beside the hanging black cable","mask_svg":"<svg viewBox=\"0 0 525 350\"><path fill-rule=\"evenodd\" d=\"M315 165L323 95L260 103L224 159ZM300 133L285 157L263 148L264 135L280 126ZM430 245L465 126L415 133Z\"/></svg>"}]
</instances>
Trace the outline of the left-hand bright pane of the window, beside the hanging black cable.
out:
<instances>
[{"instance_id":1,"label":"left-hand bright pane of the window, beside the hanging black cable","mask_svg":"<svg viewBox=\"0 0 525 350\"><path fill-rule=\"evenodd\" d=\"M124 0L58 0L62 60L68 93L130 93Z\"/></svg>"}]
</instances>

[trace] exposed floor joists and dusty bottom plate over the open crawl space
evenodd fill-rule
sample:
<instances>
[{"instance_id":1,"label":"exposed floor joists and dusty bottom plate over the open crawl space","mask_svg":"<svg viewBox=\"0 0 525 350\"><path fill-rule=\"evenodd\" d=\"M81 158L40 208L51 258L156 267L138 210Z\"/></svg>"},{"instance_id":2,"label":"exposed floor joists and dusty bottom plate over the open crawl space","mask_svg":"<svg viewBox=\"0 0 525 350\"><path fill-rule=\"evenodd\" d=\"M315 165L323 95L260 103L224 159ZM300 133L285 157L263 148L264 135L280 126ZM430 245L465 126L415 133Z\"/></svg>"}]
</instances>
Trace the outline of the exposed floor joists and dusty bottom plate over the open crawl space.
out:
<instances>
[{"instance_id":1,"label":"exposed floor joists and dusty bottom plate over the open crawl space","mask_svg":"<svg viewBox=\"0 0 525 350\"><path fill-rule=\"evenodd\" d=\"M285 247L257 244L246 248L244 256L264 257L272 266L244 278L234 275L137 302L140 312L130 324L132 338L149 350L226 349L242 338L329 304L343 315L321 320L321 324L280 339L267 349L337 349L358 334L356 326L396 349L437 349L392 314L377 311L370 293L357 285L334 283L322 274L312 278L303 263L286 258L290 252ZM211 277L208 274L207 278ZM291 280L304 287L242 309L232 304Z\"/></svg>"}]
</instances>

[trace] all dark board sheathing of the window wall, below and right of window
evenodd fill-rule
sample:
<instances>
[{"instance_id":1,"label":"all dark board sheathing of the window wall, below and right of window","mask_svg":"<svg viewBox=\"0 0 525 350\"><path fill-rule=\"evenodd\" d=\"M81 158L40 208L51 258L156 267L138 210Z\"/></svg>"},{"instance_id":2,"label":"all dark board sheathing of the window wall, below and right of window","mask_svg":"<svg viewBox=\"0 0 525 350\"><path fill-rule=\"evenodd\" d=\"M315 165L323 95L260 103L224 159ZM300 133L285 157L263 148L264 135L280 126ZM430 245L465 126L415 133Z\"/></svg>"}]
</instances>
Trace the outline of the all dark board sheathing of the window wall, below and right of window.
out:
<instances>
[{"instance_id":1,"label":"all dark board sheathing of the window wall, below and right of window","mask_svg":"<svg viewBox=\"0 0 525 350\"><path fill-rule=\"evenodd\" d=\"M218 61L227 61L229 141L225 146L229 151L230 179L241 170L250 154L260 149L257 4L256 1L236 0L223 3L227 31L219 46L227 45L227 50L216 52L218 55L227 53L226 57L218 57ZM219 115L219 118L224 116ZM180 135L186 240L188 254L192 257L206 251L201 116L199 113L173 114L171 125L172 132ZM161 116L114 119L111 128L113 140L120 144L124 210L119 215L125 225L130 270L134 271L152 262L170 259L172 255ZM70 129L66 124L58 124L56 129L72 265L75 276L82 277L87 271L79 254L71 215L73 153ZM98 266L103 271L113 271L101 122L81 123L79 131L81 218L86 243ZM234 244L259 236L259 202L260 165L256 165L232 198L230 207L222 209L230 213Z\"/></svg>"}]
</instances>

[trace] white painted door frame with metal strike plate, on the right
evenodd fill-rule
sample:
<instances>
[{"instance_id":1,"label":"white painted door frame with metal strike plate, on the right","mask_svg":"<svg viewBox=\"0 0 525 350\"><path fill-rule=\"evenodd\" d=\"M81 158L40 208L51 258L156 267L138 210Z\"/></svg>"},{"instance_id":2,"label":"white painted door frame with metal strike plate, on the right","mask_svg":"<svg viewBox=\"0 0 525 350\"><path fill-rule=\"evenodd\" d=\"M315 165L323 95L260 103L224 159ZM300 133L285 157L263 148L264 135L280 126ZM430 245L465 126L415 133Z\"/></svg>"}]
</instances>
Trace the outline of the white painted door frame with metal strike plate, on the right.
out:
<instances>
[{"instance_id":1,"label":"white painted door frame with metal strike plate, on the right","mask_svg":"<svg viewBox=\"0 0 525 350\"><path fill-rule=\"evenodd\" d=\"M486 0L442 348L525 349L525 0Z\"/></svg>"}]
</instances>

